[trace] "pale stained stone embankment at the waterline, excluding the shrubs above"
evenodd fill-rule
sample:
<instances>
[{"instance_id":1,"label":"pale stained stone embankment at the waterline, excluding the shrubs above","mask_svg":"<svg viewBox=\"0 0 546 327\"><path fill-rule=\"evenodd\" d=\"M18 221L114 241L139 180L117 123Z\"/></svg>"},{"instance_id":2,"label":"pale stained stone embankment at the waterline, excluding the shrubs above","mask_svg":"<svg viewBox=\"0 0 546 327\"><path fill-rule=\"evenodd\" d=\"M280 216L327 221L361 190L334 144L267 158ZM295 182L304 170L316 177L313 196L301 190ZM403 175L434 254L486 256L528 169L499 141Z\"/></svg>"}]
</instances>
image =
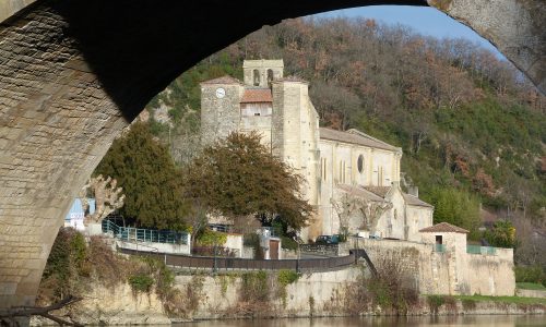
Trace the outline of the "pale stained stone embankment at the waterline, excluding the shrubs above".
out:
<instances>
[{"instance_id":1,"label":"pale stained stone embankment at the waterline, excluding the shrubs above","mask_svg":"<svg viewBox=\"0 0 546 327\"><path fill-rule=\"evenodd\" d=\"M129 283L86 286L83 300L55 315L85 325L168 325L201 319L269 317L342 317L396 314L355 292L360 268L295 275L234 272L180 275L174 288L179 298L165 303L154 290L135 291ZM178 301L178 302L177 302ZM174 307L173 305L178 305ZM170 305L170 306L169 306ZM517 296L420 295L406 312L430 315L546 314L546 299ZM33 318L32 326L49 320Z\"/></svg>"}]
</instances>

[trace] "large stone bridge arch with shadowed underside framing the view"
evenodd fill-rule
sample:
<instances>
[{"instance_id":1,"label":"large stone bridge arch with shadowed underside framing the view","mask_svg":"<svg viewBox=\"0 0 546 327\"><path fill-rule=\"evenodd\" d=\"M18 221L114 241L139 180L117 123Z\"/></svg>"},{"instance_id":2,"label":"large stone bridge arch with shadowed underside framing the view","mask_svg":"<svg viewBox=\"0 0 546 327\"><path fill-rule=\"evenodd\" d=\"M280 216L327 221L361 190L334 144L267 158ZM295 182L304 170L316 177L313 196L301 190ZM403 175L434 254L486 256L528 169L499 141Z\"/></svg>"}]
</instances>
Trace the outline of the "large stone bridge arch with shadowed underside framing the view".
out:
<instances>
[{"instance_id":1,"label":"large stone bridge arch with shadowed underside framing the view","mask_svg":"<svg viewBox=\"0 0 546 327\"><path fill-rule=\"evenodd\" d=\"M181 72L264 24L370 4L435 5L544 93L541 0L0 0L0 308L33 304L76 191Z\"/></svg>"}]
</instances>

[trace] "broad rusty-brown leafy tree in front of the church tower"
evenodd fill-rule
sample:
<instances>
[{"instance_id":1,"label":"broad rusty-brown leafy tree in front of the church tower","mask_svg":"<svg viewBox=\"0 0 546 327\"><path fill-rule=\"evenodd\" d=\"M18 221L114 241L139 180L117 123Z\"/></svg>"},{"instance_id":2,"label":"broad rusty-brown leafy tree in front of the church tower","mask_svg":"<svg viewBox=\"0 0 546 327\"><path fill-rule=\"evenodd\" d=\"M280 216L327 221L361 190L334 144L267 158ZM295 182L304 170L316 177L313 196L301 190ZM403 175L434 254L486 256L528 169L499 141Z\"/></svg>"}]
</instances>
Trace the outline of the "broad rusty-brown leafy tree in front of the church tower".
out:
<instances>
[{"instance_id":1,"label":"broad rusty-brown leafy tree in front of the church tower","mask_svg":"<svg viewBox=\"0 0 546 327\"><path fill-rule=\"evenodd\" d=\"M188 167L189 194L211 213L270 225L276 215L292 229L307 225L312 207L300 193L304 179L271 155L260 135L232 133L203 149Z\"/></svg>"}]
</instances>

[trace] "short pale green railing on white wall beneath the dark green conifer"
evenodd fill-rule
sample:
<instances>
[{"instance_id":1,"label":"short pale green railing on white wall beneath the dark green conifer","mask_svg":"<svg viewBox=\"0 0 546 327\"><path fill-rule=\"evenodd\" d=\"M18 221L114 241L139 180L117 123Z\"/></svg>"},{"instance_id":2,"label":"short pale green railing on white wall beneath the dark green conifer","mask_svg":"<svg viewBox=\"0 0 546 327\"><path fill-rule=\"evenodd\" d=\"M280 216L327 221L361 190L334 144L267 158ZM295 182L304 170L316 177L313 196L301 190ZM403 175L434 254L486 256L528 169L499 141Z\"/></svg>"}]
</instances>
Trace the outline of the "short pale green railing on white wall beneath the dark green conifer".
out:
<instances>
[{"instance_id":1,"label":"short pale green railing on white wall beneath the dark green conifer","mask_svg":"<svg viewBox=\"0 0 546 327\"><path fill-rule=\"evenodd\" d=\"M110 233L122 241L188 244L188 233L186 232L121 227L108 219L104 219L102 225L104 233Z\"/></svg>"}]
</instances>

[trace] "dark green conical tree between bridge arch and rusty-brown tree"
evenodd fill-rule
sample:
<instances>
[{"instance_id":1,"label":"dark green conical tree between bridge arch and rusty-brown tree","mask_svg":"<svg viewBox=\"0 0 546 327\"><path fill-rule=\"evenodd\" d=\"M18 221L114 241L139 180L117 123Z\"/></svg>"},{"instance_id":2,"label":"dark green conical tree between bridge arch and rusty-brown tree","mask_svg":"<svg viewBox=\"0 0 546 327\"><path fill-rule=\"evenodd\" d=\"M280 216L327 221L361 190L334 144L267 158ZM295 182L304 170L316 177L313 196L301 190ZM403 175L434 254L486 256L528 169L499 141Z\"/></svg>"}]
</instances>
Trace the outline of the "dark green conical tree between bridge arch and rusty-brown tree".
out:
<instances>
[{"instance_id":1,"label":"dark green conical tree between bridge arch and rusty-brown tree","mask_svg":"<svg viewBox=\"0 0 546 327\"><path fill-rule=\"evenodd\" d=\"M123 187L120 209L136 226L183 230L190 206L183 197L181 173L168 150L156 142L147 124L136 122L103 158L95 174L110 175Z\"/></svg>"}]
</instances>

